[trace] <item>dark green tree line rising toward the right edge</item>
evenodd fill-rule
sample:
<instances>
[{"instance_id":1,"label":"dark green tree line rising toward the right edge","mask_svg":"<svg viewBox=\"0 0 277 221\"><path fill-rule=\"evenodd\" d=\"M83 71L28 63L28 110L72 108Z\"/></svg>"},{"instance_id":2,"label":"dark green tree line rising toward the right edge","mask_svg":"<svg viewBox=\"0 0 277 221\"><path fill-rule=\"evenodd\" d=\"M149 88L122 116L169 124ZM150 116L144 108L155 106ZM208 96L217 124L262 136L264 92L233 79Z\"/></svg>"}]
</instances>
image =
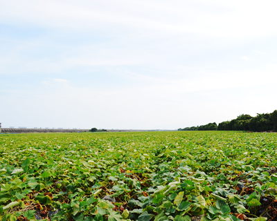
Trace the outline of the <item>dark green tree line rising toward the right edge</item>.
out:
<instances>
[{"instance_id":1,"label":"dark green tree line rising toward the right edge","mask_svg":"<svg viewBox=\"0 0 277 221\"><path fill-rule=\"evenodd\" d=\"M231 121L220 124L210 123L202 126L179 128L178 131L277 131L277 110L273 113L251 115L239 115Z\"/></svg>"}]
</instances>

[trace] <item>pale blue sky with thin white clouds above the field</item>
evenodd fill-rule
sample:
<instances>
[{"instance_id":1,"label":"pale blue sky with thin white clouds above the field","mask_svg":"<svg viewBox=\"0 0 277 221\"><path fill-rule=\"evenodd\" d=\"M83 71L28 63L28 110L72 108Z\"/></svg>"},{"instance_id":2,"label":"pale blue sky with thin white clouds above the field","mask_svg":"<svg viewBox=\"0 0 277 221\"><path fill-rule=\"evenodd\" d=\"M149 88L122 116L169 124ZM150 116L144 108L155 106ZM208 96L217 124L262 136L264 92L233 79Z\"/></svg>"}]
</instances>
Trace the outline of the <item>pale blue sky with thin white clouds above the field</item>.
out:
<instances>
[{"instance_id":1,"label":"pale blue sky with thin white clouds above the field","mask_svg":"<svg viewBox=\"0 0 277 221\"><path fill-rule=\"evenodd\" d=\"M277 109L276 1L0 1L0 122L177 129Z\"/></svg>"}]
</instances>

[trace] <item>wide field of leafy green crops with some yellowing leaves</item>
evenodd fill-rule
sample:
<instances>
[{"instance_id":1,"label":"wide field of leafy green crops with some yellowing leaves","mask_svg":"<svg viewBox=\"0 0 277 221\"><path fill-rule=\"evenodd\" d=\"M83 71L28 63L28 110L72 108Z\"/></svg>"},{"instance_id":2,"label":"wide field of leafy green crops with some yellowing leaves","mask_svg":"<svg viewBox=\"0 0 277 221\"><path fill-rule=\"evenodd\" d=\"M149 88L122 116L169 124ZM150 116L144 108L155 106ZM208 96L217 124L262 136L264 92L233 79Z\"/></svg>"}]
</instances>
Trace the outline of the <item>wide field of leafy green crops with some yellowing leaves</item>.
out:
<instances>
[{"instance_id":1,"label":"wide field of leafy green crops with some yellowing leaves","mask_svg":"<svg viewBox=\"0 0 277 221\"><path fill-rule=\"evenodd\" d=\"M277 135L0 135L0 220L277 220Z\"/></svg>"}]
</instances>

